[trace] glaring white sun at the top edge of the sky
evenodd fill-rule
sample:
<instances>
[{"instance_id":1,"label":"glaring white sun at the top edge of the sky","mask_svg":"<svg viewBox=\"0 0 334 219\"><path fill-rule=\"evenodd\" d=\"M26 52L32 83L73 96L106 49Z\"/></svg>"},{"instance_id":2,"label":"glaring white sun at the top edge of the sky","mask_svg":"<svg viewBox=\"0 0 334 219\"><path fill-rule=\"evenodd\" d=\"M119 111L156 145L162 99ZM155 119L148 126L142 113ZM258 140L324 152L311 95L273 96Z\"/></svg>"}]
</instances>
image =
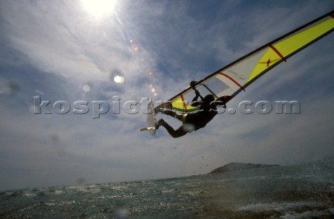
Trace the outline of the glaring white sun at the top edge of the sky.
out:
<instances>
[{"instance_id":1,"label":"glaring white sun at the top edge of the sky","mask_svg":"<svg viewBox=\"0 0 334 219\"><path fill-rule=\"evenodd\" d=\"M81 0L81 3L90 15L93 15L95 19L100 19L113 11L116 0Z\"/></svg>"}]
</instances>

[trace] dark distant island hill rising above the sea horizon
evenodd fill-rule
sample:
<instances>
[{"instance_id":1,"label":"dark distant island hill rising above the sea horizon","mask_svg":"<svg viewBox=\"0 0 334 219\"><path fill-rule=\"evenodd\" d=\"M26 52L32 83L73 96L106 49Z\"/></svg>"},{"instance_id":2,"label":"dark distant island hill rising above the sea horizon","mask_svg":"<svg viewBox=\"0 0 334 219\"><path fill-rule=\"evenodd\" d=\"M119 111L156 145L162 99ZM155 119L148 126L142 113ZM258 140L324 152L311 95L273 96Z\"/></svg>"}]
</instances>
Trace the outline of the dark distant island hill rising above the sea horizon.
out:
<instances>
[{"instance_id":1,"label":"dark distant island hill rising above the sea horizon","mask_svg":"<svg viewBox=\"0 0 334 219\"><path fill-rule=\"evenodd\" d=\"M273 164L253 164L253 163L228 163L226 165L221 166L220 168L216 168L209 172L209 174L215 173L223 173L223 172L234 172L234 171L241 171L241 170L250 170L250 169L257 169L257 168L272 168L277 167L279 165Z\"/></svg>"}]
</instances>

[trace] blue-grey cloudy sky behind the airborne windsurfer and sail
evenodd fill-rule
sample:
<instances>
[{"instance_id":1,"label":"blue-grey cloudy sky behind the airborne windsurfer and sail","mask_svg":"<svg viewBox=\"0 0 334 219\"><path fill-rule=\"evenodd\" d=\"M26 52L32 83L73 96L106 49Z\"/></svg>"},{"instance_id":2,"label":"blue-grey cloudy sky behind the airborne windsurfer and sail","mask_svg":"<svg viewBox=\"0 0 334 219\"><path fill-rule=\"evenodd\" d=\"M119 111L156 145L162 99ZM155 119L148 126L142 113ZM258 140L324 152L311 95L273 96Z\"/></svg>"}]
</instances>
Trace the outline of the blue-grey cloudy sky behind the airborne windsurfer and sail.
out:
<instances>
[{"instance_id":1,"label":"blue-grey cloudy sky behind the airborne windsurfer and sail","mask_svg":"<svg viewBox=\"0 0 334 219\"><path fill-rule=\"evenodd\" d=\"M226 111L182 138L138 131L147 97L166 101L333 9L330 0L1 1L0 190L333 156L333 33L228 103L298 101L300 113Z\"/></svg>"}]
</instances>

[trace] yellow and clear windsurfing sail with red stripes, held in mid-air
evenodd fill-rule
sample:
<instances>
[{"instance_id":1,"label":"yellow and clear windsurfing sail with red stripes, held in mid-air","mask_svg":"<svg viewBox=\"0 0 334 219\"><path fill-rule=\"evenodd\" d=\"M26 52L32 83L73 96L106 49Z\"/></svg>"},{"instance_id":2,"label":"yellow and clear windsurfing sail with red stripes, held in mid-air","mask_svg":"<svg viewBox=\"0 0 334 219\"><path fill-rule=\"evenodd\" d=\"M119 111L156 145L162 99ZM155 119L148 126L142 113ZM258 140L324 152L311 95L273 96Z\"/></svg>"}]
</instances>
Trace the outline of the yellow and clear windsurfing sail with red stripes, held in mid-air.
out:
<instances>
[{"instance_id":1,"label":"yellow and clear windsurfing sail with red stripes, held in mid-air","mask_svg":"<svg viewBox=\"0 0 334 219\"><path fill-rule=\"evenodd\" d=\"M226 103L239 92L246 91L251 83L273 67L286 62L289 57L320 40L333 30L334 10L264 44L264 46L210 74L196 83L196 89L200 93L211 93L216 99L221 100L225 97L224 102ZM187 113L198 109L190 106L189 100L193 97L194 90L189 87L170 98L168 102L172 103L173 110Z\"/></svg>"}]
</instances>

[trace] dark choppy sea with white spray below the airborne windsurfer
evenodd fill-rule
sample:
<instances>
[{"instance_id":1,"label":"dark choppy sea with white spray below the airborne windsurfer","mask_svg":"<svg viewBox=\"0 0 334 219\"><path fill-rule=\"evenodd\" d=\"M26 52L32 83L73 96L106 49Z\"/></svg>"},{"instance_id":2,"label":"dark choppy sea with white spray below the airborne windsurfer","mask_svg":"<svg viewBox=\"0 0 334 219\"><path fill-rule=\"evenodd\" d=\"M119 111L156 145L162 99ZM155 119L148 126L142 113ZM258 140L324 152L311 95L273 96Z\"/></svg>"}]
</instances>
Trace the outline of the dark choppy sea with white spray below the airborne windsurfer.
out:
<instances>
[{"instance_id":1,"label":"dark choppy sea with white spray below the airborne windsurfer","mask_svg":"<svg viewBox=\"0 0 334 219\"><path fill-rule=\"evenodd\" d=\"M0 218L334 218L334 156L173 179L6 190Z\"/></svg>"}]
</instances>

